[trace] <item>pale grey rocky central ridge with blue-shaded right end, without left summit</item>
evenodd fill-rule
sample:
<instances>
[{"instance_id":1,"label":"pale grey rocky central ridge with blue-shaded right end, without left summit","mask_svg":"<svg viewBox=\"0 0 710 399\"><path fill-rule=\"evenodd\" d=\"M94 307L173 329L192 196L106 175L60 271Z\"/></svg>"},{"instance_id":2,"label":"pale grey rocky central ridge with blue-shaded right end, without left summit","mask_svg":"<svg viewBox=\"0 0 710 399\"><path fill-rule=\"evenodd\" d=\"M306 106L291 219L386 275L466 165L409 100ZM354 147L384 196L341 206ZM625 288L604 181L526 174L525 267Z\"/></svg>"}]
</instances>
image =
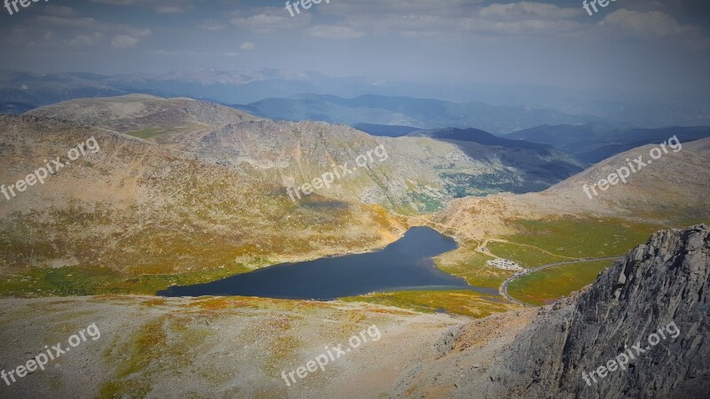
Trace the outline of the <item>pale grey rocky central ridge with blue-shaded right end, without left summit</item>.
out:
<instances>
[{"instance_id":1,"label":"pale grey rocky central ridge with blue-shaded right end, without left summit","mask_svg":"<svg viewBox=\"0 0 710 399\"><path fill-rule=\"evenodd\" d=\"M579 161L554 149L466 146L429 137L375 138L342 125L307 121L229 125L211 132L194 151L223 152L217 158L288 185L308 182L330 165L355 166L359 155L379 145L387 152L386 160L375 157L366 173L335 182L324 195L378 203L403 213L408 204L430 212L464 195L541 190L581 170ZM427 186L439 194L426 193Z\"/></svg>"}]
</instances>

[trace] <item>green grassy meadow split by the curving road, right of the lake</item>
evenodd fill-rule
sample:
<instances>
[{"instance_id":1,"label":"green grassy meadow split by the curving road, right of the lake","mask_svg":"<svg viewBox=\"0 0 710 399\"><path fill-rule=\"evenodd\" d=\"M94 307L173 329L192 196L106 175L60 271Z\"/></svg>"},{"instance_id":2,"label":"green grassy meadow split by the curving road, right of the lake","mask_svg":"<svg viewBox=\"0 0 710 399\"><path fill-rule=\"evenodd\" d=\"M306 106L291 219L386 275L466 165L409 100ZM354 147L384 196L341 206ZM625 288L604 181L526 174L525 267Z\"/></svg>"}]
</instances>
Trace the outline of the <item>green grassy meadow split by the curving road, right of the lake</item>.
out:
<instances>
[{"instance_id":1,"label":"green grassy meadow split by the curving road, right of the lake","mask_svg":"<svg viewBox=\"0 0 710 399\"><path fill-rule=\"evenodd\" d=\"M509 226L517 232L498 238L507 242L488 242L488 250L497 257L519 262L525 268L571 259L621 256L634 246L645 242L652 232L665 228L654 223L591 217L565 217L542 221L514 220L509 221ZM455 276L466 278L471 286L498 288L514 272L487 265L485 262L493 258L477 252L475 248L478 245L475 240L461 243L459 249L438 256L437 266ZM611 264L602 263L606 266ZM520 296L523 301L543 304L587 286L594 281L601 270L599 268L603 268L596 262L580 265L588 267L571 264L553 268L554 271L533 273L527 278L517 280L509 287L509 293L514 297L517 297L516 294L523 295ZM441 303L445 295L432 294L431 299ZM408 296L411 297L411 294ZM422 293L420 296L418 300L422 300L426 295ZM402 295L397 301L402 302L405 297L407 295ZM394 303L395 299L388 298L388 301ZM441 308L446 309L446 306Z\"/></svg>"}]
</instances>

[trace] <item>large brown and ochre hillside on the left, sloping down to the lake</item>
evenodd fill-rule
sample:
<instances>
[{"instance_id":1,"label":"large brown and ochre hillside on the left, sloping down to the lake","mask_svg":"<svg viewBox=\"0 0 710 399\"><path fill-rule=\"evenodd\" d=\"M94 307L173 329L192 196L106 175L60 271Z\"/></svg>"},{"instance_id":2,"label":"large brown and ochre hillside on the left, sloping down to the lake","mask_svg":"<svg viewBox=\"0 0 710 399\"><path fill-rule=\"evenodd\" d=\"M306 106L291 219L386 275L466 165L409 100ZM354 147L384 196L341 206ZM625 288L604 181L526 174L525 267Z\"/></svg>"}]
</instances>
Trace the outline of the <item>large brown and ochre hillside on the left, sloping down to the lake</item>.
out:
<instances>
[{"instance_id":1,"label":"large brown and ochre hillside on the left, sloping down to the lake","mask_svg":"<svg viewBox=\"0 0 710 399\"><path fill-rule=\"evenodd\" d=\"M94 137L98 152L0 201L4 295L154 293L274 262L385 246L405 225L383 207L299 206L282 186L106 129L0 116L8 185Z\"/></svg>"}]
</instances>

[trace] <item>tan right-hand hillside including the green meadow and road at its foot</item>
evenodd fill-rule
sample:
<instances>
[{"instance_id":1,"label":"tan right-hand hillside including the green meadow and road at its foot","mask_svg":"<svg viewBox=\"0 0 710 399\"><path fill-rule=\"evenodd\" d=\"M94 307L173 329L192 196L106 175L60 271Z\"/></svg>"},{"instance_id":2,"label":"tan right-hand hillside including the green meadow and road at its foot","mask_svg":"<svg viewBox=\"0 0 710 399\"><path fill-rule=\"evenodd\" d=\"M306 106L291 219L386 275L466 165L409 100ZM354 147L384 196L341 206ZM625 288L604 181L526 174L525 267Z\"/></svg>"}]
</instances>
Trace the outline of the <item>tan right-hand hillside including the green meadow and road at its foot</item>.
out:
<instances>
[{"instance_id":1,"label":"tan right-hand hillside including the green meadow and road at its foot","mask_svg":"<svg viewBox=\"0 0 710 399\"><path fill-rule=\"evenodd\" d=\"M437 264L473 286L500 290L516 273L487 264L494 258L528 269L579 262L533 273L511 287L513 298L550 303L591 283L598 271L611 265L609 258L626 254L654 231L710 221L705 178L710 173L710 138L684 143L677 153L669 151L630 176L627 184L597 190L599 195L592 199L584 192L584 184L608 178L627 165L626 159L648 159L652 148L620 153L543 192L453 200L441 212L413 218L412 223L431 226L461 243L456 251L439 256Z\"/></svg>"}]
</instances>

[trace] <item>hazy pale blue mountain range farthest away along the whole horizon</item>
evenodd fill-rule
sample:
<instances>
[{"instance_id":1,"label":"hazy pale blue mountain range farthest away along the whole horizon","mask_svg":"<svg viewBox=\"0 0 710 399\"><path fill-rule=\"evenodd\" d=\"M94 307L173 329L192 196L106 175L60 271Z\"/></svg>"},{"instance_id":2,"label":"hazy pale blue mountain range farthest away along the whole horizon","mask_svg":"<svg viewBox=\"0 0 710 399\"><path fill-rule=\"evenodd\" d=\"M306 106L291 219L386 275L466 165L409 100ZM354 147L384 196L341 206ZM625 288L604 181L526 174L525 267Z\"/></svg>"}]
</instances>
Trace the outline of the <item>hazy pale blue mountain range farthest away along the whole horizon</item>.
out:
<instances>
[{"instance_id":1,"label":"hazy pale blue mountain range farthest away along the whole horizon","mask_svg":"<svg viewBox=\"0 0 710 399\"><path fill-rule=\"evenodd\" d=\"M299 93L319 93L323 98L300 96ZM659 128L663 126L710 125L710 104L707 98L664 99L649 103L645 98L635 98L613 90L564 90L546 86L509 84L485 85L473 83L422 84L415 82L392 82L372 80L362 77L333 77L317 72L299 72L276 69L258 69L236 72L201 68L186 71L171 71L162 74L92 74L70 72L60 74L35 74L20 71L0 71L0 112L20 113L37 106L46 106L74 98L114 97L125 94L151 94L163 98L189 97L220 104L240 104L254 106L258 113L264 98L286 100L319 100L333 102L333 106L352 108L361 96L397 96L399 98L439 98L463 106L468 113L453 109L451 115L442 118L424 118L430 123L422 128L445 128L449 126L486 129L495 133L516 129L527 129L541 124L561 124L589 122L588 116L596 121L626 121L637 127ZM327 96L327 95L333 95ZM340 97L340 100L337 97ZM344 101L344 98L351 100ZM372 98L367 99L367 101ZM8 105L7 103L17 103ZM262 116L277 118L268 105ZM292 105L293 107L298 107ZM392 110L380 104L366 104L375 109L383 108L385 113L375 113L371 120L355 123L392 124L392 121L411 120L392 118ZM467 107L468 106L468 107ZM496 107L509 107L508 110ZM313 113L317 117L304 117L300 112L288 111L280 119L314 119L318 121L343 121L343 109L324 108L325 112ZM357 106L355 106L357 107ZM469 109L470 108L470 109ZM268 111L268 114L266 113ZM353 111L349 109L349 111ZM364 110L361 110L364 111ZM331 114L335 113L335 114ZM490 118L487 113L493 112ZM396 112L395 112L396 113ZM507 117L513 113L513 120L498 129L493 126L496 117ZM365 112L363 116L373 116ZM570 115L574 115L571 119ZM312 116L312 115L311 115ZM562 117L559 119L558 117ZM469 121L464 119L469 118ZM384 121L384 122L380 122ZM443 123L440 121L461 121ZM464 122L480 124L465 125ZM398 123L403 124L403 123ZM406 124L406 123L404 123Z\"/></svg>"}]
</instances>

